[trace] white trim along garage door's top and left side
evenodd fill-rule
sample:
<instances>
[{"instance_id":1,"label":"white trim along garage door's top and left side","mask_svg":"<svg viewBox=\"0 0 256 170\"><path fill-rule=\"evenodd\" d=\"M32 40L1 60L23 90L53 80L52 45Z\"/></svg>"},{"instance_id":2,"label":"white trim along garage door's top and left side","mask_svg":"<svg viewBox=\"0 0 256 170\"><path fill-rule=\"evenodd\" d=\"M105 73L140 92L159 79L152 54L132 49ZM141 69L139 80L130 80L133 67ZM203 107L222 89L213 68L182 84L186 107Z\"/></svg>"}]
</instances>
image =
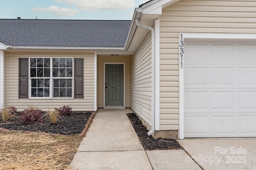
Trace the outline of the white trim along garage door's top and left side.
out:
<instances>
[{"instance_id":1,"label":"white trim along garage door's top and left side","mask_svg":"<svg viewBox=\"0 0 256 170\"><path fill-rule=\"evenodd\" d=\"M184 41L240 40L254 41L256 35L248 34L196 34L180 33L179 35L179 139L184 139Z\"/></svg>"}]
</instances>

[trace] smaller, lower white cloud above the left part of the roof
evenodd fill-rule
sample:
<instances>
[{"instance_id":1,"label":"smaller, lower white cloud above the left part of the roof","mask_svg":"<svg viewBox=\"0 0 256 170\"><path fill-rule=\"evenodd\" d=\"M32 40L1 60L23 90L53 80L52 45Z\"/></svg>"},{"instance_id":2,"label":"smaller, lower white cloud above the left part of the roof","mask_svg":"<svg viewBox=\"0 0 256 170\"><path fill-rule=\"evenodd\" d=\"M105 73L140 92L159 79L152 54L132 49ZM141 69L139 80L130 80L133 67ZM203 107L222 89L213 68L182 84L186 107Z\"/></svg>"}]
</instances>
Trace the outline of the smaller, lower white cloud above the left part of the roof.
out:
<instances>
[{"instance_id":1,"label":"smaller, lower white cloud above the left part of the roof","mask_svg":"<svg viewBox=\"0 0 256 170\"><path fill-rule=\"evenodd\" d=\"M49 6L47 8L32 8L32 10L36 12L52 12L56 16L74 16L78 12L78 10L73 10L70 8L59 8L57 6Z\"/></svg>"}]
</instances>

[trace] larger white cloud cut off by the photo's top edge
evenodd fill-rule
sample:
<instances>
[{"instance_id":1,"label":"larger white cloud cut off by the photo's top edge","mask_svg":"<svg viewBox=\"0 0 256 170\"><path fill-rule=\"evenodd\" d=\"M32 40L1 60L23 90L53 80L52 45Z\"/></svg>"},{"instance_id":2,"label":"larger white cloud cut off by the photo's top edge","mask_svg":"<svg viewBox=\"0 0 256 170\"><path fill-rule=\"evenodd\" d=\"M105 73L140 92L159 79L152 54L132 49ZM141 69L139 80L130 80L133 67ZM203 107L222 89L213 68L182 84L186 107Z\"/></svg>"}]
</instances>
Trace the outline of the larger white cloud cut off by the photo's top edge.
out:
<instances>
[{"instance_id":1,"label":"larger white cloud cut off by the photo's top edge","mask_svg":"<svg viewBox=\"0 0 256 170\"><path fill-rule=\"evenodd\" d=\"M135 7L135 0L54 0L77 6L84 11L126 10Z\"/></svg>"}]
</instances>

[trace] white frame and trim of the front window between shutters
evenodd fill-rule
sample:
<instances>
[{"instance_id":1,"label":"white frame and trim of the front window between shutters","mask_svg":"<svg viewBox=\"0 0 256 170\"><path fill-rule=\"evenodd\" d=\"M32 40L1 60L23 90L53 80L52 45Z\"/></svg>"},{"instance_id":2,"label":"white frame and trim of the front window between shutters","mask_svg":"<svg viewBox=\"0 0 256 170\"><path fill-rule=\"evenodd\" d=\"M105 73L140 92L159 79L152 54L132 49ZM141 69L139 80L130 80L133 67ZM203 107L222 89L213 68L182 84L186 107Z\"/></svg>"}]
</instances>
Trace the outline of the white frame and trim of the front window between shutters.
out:
<instances>
[{"instance_id":1,"label":"white frame and trim of the front window between shutters","mask_svg":"<svg viewBox=\"0 0 256 170\"><path fill-rule=\"evenodd\" d=\"M33 77L30 77L30 59L33 58L44 58L44 59L50 59L50 95L49 97L31 97L31 79L33 79ZM52 59L56 58L56 59L67 59L70 58L72 59L72 78L70 77L53 77L52 76ZM29 77L29 81L28 81L28 99L33 99L33 100L42 100L42 99L54 99L54 100L70 100L70 99L74 99L74 57L29 57L28 58L28 77ZM53 97L53 80L54 79L72 79L72 97Z\"/></svg>"}]
</instances>

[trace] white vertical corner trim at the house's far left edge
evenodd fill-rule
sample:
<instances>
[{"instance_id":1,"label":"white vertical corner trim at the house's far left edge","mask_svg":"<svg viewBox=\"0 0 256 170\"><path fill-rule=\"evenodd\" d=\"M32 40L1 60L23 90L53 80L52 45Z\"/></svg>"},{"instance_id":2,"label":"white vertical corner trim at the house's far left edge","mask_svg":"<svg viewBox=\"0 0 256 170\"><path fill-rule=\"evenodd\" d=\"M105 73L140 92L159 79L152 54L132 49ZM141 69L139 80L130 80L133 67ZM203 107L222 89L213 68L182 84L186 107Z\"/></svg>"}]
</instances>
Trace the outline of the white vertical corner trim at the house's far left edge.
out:
<instances>
[{"instance_id":1,"label":"white vertical corner trim at the house's far left edge","mask_svg":"<svg viewBox=\"0 0 256 170\"><path fill-rule=\"evenodd\" d=\"M0 109L4 107L4 51L0 50Z\"/></svg>"}]
</instances>

